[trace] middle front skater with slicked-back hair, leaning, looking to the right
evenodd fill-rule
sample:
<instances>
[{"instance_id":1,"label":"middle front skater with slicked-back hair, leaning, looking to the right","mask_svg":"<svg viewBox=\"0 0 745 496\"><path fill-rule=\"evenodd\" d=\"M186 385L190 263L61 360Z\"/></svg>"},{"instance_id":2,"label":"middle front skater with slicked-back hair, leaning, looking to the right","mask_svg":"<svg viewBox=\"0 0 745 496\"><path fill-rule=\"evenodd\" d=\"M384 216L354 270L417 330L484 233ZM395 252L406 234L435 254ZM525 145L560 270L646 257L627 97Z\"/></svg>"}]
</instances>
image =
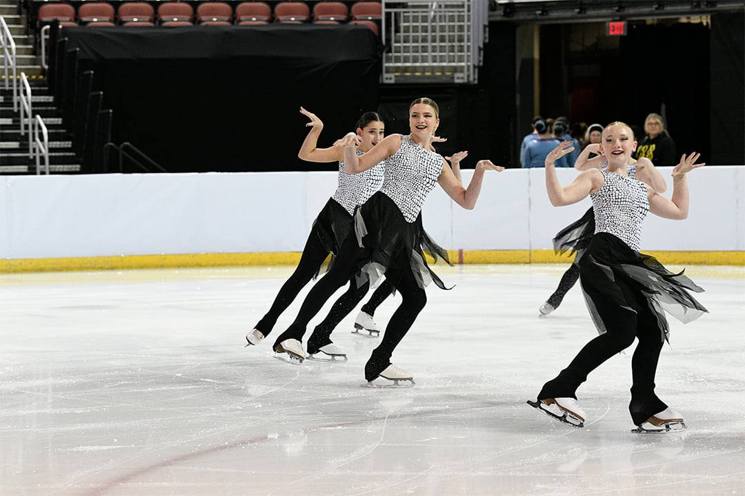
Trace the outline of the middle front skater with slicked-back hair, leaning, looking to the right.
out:
<instances>
[{"instance_id":1,"label":"middle front skater with slicked-back hair, leaning, looking to the right","mask_svg":"<svg viewBox=\"0 0 745 496\"><path fill-rule=\"evenodd\" d=\"M347 172L364 173L383 162L383 185L355 213L355 235L345 239L328 274L315 284L295 321L276 339L275 352L286 352L302 361L306 356L301 344L305 328L326 300L358 272L373 285L384 274L401 294L402 303L365 365L365 379L373 386L378 377L390 379L394 385L399 381L413 385L411 374L393 366L390 358L425 306L425 286L430 280L442 284L422 254L422 204L439 182L457 204L472 209L481 192L484 171L504 170L491 161L479 161L469 187L464 188L444 158L431 151L439 123L437 103L418 98L409 106L409 135L389 135L359 156L358 139L352 135L344 138Z\"/></svg>"}]
</instances>

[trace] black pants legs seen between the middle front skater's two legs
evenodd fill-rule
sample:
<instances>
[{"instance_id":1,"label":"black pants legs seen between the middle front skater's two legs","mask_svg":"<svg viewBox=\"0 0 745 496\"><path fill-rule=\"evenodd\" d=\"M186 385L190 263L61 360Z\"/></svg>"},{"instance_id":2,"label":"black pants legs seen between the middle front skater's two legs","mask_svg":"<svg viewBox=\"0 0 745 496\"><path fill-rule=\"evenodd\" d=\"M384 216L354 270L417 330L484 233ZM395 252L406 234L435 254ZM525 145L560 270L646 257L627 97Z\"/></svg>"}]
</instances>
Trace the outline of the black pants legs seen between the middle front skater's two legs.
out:
<instances>
[{"instance_id":1,"label":"black pants legs seen between the middle front skater's two legs","mask_svg":"<svg viewBox=\"0 0 745 496\"><path fill-rule=\"evenodd\" d=\"M336 326L352 312L352 309L362 301L365 294L370 290L370 283L366 282L362 286L357 287L354 278L349 282L349 289L346 293L342 294L332 309L329 311L329 315L313 329L313 334L308 338L308 353L317 353L320 347L326 346L331 343L331 333L334 332ZM367 303L362 306L362 311L367 315L374 315L375 310L378 309L383 301L393 293L393 286L385 280L370 297Z\"/></svg>"}]
</instances>

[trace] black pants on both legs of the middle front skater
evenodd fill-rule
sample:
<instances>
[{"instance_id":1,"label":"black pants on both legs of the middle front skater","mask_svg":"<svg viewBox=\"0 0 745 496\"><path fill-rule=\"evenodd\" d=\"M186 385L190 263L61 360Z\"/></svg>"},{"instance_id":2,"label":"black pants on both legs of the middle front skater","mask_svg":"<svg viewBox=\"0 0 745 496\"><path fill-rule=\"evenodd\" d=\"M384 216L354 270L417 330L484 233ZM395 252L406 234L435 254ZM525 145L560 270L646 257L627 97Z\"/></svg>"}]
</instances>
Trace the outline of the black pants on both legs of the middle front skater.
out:
<instances>
[{"instance_id":1,"label":"black pants on both legs of the middle front skater","mask_svg":"<svg viewBox=\"0 0 745 496\"><path fill-rule=\"evenodd\" d=\"M276 339L275 347L285 339L302 341L302 336L305 335L305 329L311 318L320 311L337 289L351 280L359 269L370 261L370 255L369 248L359 246L357 236L353 234L347 236L331 270L313 286L308 296L305 297L295 321ZM405 268L401 269L400 273L396 273L393 268L388 268L385 275L390 284L401 294L402 302L396 312L393 312L381 343L373 350L372 356L365 365L365 379L368 381L377 378L390 365L393 350L404 338L416 320L416 316L427 303L425 290L419 287L408 268L408 254L398 254L393 262L392 266Z\"/></svg>"}]
</instances>

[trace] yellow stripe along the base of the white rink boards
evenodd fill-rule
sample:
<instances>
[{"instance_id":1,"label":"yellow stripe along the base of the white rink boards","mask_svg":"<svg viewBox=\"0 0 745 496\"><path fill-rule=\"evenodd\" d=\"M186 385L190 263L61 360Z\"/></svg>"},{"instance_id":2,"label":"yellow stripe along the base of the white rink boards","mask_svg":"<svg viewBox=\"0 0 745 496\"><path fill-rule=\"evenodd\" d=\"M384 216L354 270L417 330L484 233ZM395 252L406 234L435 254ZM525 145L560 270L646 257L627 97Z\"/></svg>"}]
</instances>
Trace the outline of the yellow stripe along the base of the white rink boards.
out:
<instances>
[{"instance_id":1,"label":"yellow stripe along the base of the white rink boards","mask_svg":"<svg viewBox=\"0 0 745 496\"><path fill-rule=\"evenodd\" d=\"M663 264L671 265L745 265L745 251L650 251L644 253L653 255ZM572 260L572 257L567 255L554 254L552 250L451 250L448 254L455 264L569 263ZM5 259L0 260L0 274L297 265L299 260L300 254L296 252Z\"/></svg>"}]
</instances>

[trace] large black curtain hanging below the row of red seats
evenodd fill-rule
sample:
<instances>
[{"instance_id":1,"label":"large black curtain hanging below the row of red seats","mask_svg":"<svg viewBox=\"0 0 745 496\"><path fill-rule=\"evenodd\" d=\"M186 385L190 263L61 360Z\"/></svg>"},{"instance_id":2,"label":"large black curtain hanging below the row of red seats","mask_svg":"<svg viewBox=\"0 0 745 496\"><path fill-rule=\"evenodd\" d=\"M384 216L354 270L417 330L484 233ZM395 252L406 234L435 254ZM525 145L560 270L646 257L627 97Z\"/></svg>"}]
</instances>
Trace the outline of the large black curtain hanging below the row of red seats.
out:
<instances>
[{"instance_id":1,"label":"large black curtain hanging below the row of red seats","mask_svg":"<svg viewBox=\"0 0 745 496\"><path fill-rule=\"evenodd\" d=\"M66 28L113 110L112 141L168 172L334 170L297 158L304 106L319 146L378 106L380 49L360 26Z\"/></svg>"}]
</instances>

